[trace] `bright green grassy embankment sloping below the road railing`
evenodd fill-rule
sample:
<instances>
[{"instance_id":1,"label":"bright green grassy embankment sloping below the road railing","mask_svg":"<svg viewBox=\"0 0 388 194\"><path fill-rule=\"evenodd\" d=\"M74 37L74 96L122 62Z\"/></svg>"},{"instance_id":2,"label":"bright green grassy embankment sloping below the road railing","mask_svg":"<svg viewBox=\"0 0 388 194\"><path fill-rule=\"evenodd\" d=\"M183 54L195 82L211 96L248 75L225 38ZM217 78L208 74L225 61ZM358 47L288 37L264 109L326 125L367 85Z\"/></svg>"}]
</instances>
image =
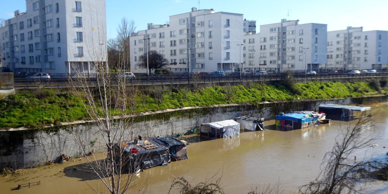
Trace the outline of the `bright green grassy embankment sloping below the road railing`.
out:
<instances>
[{"instance_id":1,"label":"bright green grassy embankment sloping below the road railing","mask_svg":"<svg viewBox=\"0 0 388 194\"><path fill-rule=\"evenodd\" d=\"M293 87L293 88L290 88ZM309 82L294 86L251 85L195 89L147 90L137 95L135 112L215 104L258 104L295 99L334 99L387 94L386 82ZM292 91L292 92L291 92ZM36 128L87 118L79 98L72 94L17 94L0 100L0 128Z\"/></svg>"}]
</instances>

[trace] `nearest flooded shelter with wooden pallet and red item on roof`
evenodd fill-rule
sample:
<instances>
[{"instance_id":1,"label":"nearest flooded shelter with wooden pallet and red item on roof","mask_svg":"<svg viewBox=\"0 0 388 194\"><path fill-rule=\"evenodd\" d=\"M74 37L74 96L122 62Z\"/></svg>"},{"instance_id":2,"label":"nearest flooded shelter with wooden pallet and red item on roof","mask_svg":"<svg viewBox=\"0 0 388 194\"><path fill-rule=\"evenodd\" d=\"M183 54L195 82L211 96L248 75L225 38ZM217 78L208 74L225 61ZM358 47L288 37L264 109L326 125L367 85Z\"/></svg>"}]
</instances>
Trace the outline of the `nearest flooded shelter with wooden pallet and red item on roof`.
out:
<instances>
[{"instance_id":1,"label":"nearest flooded shelter with wooden pallet and red item on roof","mask_svg":"<svg viewBox=\"0 0 388 194\"><path fill-rule=\"evenodd\" d=\"M152 139L139 140L138 142L133 142L132 140L122 141L116 144L116 149L123 149L123 155L126 156L124 162L130 172L154 166L163 166L170 162L168 147Z\"/></svg>"}]
</instances>

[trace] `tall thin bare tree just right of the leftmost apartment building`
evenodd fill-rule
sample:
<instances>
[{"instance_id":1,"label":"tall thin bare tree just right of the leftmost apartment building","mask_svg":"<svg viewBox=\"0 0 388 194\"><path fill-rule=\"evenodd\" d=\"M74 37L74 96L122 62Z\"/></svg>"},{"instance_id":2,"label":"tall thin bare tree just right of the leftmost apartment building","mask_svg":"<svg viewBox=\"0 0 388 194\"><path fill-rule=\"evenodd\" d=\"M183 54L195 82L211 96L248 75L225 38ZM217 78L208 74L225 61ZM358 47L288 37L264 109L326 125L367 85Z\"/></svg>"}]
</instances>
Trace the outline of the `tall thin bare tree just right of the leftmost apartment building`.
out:
<instances>
[{"instance_id":1,"label":"tall thin bare tree just right of the leftmost apartment building","mask_svg":"<svg viewBox=\"0 0 388 194\"><path fill-rule=\"evenodd\" d=\"M121 65L121 69L130 69L130 43L129 43L129 37L133 32L135 32L136 26L135 21L131 20L129 21L126 17L123 17L121 19L121 23L119 24L117 28L117 45L118 50L120 52L123 52L123 55L121 56L122 59L120 60L119 64Z\"/></svg>"}]
</instances>

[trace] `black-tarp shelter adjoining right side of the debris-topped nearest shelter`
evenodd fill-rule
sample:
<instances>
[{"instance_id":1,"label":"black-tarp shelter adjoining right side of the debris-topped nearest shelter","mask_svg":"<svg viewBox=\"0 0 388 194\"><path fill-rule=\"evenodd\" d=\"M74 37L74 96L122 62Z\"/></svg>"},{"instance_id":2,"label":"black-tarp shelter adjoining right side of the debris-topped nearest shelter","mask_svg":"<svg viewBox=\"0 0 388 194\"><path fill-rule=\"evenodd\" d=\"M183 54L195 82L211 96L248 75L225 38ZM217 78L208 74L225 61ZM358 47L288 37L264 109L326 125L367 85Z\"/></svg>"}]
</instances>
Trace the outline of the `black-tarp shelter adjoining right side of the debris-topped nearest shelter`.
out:
<instances>
[{"instance_id":1,"label":"black-tarp shelter adjoining right side of the debris-topped nearest shelter","mask_svg":"<svg viewBox=\"0 0 388 194\"><path fill-rule=\"evenodd\" d=\"M184 140L179 140L175 137L155 137L152 138L155 142L168 147L170 152L171 161L177 161L181 159L188 159L186 145L189 145Z\"/></svg>"}]
</instances>

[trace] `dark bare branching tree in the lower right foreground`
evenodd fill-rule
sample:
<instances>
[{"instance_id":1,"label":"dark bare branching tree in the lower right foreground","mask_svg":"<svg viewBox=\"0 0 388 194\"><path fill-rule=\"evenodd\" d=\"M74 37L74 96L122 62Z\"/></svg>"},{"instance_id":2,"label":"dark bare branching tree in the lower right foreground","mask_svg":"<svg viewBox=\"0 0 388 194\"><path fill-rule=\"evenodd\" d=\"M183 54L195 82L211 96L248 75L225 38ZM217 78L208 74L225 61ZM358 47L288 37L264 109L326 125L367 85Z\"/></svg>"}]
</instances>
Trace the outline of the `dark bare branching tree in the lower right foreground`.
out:
<instances>
[{"instance_id":1,"label":"dark bare branching tree in the lower right foreground","mask_svg":"<svg viewBox=\"0 0 388 194\"><path fill-rule=\"evenodd\" d=\"M367 174L377 164L372 159L356 161L351 157L356 151L367 149L376 139L367 135L373 127L371 119L363 114L351 122L337 137L332 151L327 152L318 177L300 187L303 194L359 193L361 185L368 182Z\"/></svg>"}]
</instances>

